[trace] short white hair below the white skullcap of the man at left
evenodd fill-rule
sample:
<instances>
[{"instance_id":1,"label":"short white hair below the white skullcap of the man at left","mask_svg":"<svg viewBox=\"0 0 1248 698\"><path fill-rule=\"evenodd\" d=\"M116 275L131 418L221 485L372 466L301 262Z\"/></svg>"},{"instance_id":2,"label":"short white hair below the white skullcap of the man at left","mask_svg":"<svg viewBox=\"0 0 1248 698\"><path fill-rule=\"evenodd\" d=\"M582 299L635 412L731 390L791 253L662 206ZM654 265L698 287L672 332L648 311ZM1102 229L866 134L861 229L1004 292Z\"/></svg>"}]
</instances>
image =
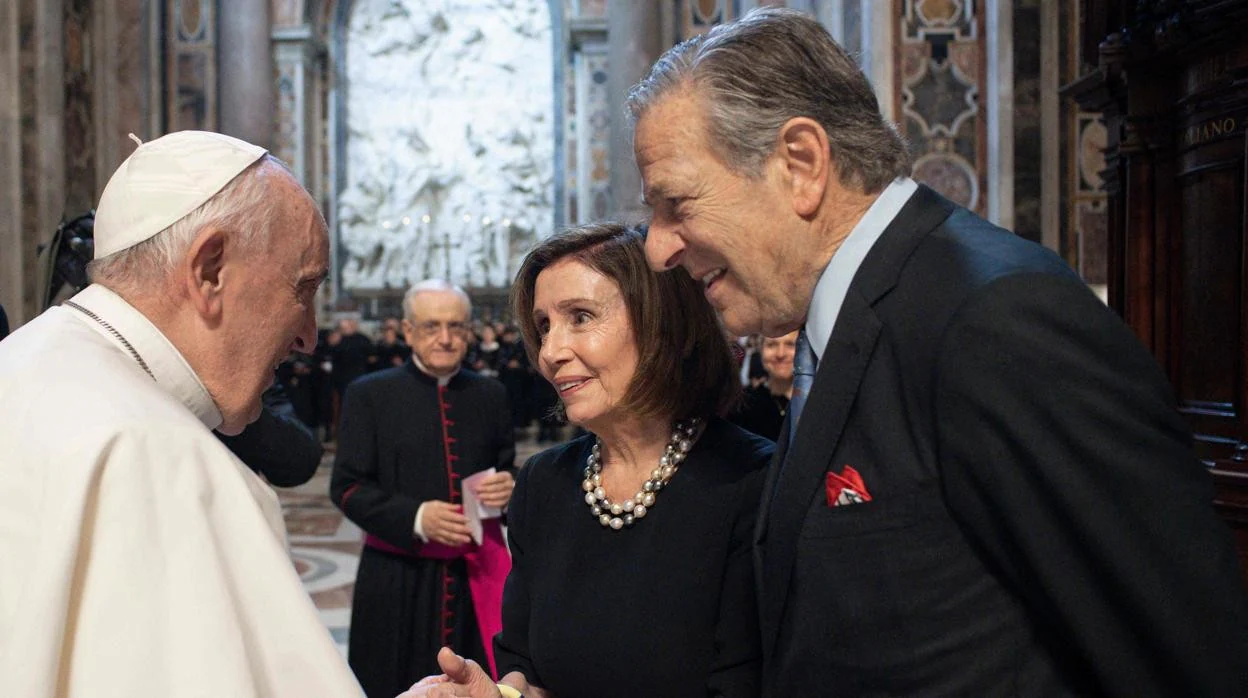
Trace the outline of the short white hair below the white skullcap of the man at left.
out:
<instances>
[{"instance_id":1,"label":"short white hair below the white skullcap of the man at left","mask_svg":"<svg viewBox=\"0 0 1248 698\"><path fill-rule=\"evenodd\" d=\"M267 243L278 217L278 197L265 180L275 167L290 172L281 160L266 154L173 225L132 247L91 261L86 267L91 281L114 291L141 292L145 285L165 278L206 227L231 231L232 240L245 250Z\"/></svg>"}]
</instances>

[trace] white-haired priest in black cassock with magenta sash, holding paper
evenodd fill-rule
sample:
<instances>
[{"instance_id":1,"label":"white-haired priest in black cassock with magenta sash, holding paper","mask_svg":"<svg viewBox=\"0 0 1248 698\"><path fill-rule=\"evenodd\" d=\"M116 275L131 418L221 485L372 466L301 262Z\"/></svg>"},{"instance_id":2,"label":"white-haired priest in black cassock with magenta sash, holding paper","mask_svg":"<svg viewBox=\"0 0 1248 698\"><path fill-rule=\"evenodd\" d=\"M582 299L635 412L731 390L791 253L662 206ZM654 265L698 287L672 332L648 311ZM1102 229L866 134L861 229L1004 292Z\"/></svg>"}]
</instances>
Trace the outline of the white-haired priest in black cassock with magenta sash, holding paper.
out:
<instances>
[{"instance_id":1,"label":"white-haired priest in black cassock with magenta sash, holding paper","mask_svg":"<svg viewBox=\"0 0 1248 698\"><path fill-rule=\"evenodd\" d=\"M510 569L498 519L480 542L463 514L461 481L504 507L515 445L502 383L462 368L470 301L444 281L403 298L407 363L347 388L329 494L364 529L348 661L369 698L393 698L438 671L449 646L493 666L502 586Z\"/></svg>"}]
</instances>

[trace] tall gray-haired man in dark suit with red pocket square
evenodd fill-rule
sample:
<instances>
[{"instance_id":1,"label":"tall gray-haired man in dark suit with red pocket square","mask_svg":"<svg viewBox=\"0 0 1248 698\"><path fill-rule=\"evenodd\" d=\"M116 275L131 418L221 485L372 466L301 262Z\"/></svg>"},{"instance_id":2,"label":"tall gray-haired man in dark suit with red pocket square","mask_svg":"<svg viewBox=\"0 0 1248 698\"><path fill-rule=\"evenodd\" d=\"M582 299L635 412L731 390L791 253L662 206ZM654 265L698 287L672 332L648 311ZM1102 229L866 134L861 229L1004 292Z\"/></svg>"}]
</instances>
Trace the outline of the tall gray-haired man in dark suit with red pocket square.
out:
<instances>
[{"instance_id":1,"label":"tall gray-haired man in dark suit with red pocket square","mask_svg":"<svg viewBox=\"0 0 1248 698\"><path fill-rule=\"evenodd\" d=\"M1243 694L1248 598L1163 375L1056 255L909 179L817 22L751 12L628 104L651 266L817 361L756 529L765 694Z\"/></svg>"}]
</instances>

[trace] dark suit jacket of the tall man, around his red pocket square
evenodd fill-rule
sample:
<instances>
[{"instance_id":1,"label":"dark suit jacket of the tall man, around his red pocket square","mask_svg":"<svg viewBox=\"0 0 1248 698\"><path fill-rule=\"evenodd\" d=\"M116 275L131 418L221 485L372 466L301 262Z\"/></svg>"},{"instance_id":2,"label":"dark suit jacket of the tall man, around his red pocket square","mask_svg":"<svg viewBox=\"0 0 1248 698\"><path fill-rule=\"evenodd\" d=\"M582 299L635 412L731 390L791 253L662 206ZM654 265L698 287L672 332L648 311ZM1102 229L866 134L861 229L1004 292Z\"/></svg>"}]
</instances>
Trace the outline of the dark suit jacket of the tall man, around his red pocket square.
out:
<instances>
[{"instance_id":1,"label":"dark suit jacket of the tall man, around his red pocket square","mask_svg":"<svg viewBox=\"0 0 1248 698\"><path fill-rule=\"evenodd\" d=\"M768 696L1243 696L1248 599L1153 358L927 187L854 277L755 534ZM871 502L829 507L851 465Z\"/></svg>"}]
</instances>

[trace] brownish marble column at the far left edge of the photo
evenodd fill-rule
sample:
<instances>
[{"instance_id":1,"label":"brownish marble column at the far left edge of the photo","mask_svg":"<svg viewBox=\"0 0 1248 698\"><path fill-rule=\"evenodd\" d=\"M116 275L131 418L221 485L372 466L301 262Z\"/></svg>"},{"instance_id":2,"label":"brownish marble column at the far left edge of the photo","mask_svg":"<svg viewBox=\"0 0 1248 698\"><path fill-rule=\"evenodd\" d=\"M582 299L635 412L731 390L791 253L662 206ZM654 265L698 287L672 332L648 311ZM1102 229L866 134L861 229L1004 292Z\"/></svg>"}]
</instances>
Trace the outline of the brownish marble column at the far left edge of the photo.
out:
<instances>
[{"instance_id":1,"label":"brownish marble column at the far left edge of the photo","mask_svg":"<svg viewBox=\"0 0 1248 698\"><path fill-rule=\"evenodd\" d=\"M35 250L65 206L64 6L0 2L0 303L10 323L40 310Z\"/></svg>"}]
</instances>

